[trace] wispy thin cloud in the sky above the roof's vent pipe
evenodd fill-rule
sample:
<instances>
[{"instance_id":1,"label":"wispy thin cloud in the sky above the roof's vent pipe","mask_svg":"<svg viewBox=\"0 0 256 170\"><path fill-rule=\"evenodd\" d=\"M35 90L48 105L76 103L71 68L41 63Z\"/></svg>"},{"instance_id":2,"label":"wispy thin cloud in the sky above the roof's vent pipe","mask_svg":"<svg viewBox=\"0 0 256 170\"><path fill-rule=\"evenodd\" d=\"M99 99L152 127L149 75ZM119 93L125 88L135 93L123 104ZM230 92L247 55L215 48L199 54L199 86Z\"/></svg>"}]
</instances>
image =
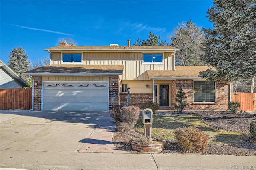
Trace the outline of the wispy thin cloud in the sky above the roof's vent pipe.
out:
<instances>
[{"instance_id":1,"label":"wispy thin cloud in the sky above the roof's vent pipe","mask_svg":"<svg viewBox=\"0 0 256 170\"><path fill-rule=\"evenodd\" d=\"M132 30L136 30L136 32L141 32L142 30L148 30L150 32L165 32L166 28L155 28L155 27L151 27L148 25L144 25L142 23L138 24L138 23L130 23L130 22L125 22L122 24L123 26L119 29L119 31L121 31L123 28L128 27L128 28L132 28Z\"/></svg>"}]
</instances>

